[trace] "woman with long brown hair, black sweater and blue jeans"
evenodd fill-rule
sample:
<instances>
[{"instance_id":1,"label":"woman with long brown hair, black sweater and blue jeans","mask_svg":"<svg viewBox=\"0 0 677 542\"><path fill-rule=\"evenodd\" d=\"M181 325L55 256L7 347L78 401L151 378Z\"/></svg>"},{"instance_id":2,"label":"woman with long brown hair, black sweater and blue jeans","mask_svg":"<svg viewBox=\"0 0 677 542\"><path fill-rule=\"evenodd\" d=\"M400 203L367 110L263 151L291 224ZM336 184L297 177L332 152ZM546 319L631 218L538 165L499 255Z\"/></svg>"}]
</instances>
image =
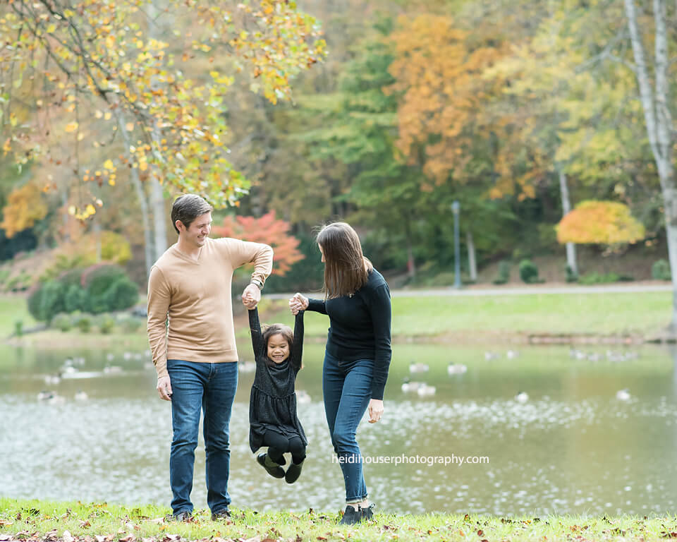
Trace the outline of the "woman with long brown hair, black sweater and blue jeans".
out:
<instances>
[{"instance_id":1,"label":"woman with long brown hair, black sweater and blue jeans","mask_svg":"<svg viewBox=\"0 0 677 542\"><path fill-rule=\"evenodd\" d=\"M367 406L370 423L383 415L391 359L390 289L362 255L358 234L345 222L322 228L317 245L324 263L324 301L296 294L289 306L294 314L307 310L329 315L322 370L324 411L346 483L341 524L355 524L373 516L355 432Z\"/></svg>"}]
</instances>

